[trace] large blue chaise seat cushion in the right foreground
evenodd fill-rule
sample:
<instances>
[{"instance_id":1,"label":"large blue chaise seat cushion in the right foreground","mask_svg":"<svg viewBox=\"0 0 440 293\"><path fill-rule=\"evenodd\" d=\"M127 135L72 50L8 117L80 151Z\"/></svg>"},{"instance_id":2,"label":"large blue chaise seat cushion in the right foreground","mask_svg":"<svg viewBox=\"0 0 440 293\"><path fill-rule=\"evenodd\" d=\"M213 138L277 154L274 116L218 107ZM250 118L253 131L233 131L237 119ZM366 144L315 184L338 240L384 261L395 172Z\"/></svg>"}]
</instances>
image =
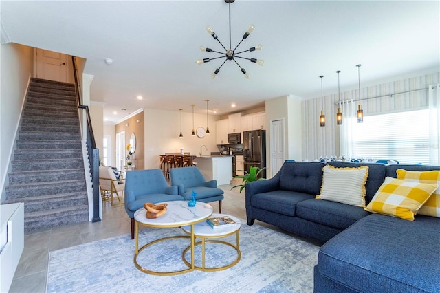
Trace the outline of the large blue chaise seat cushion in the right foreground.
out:
<instances>
[{"instance_id":1,"label":"large blue chaise seat cushion in the right foreground","mask_svg":"<svg viewBox=\"0 0 440 293\"><path fill-rule=\"evenodd\" d=\"M325 243L320 274L358 292L439 292L440 219L372 214Z\"/></svg>"}]
</instances>

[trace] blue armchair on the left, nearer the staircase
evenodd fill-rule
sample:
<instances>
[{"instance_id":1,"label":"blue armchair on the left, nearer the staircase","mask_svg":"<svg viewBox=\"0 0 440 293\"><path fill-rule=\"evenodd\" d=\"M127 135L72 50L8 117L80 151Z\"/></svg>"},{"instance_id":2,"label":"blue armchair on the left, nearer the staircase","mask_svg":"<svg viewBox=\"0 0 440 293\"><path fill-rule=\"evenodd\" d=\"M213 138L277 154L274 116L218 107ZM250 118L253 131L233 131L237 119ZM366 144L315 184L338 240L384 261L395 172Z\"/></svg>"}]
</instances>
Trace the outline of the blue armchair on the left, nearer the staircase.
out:
<instances>
[{"instance_id":1,"label":"blue armchair on the left, nearer the staircase","mask_svg":"<svg viewBox=\"0 0 440 293\"><path fill-rule=\"evenodd\" d=\"M177 186L168 186L160 169L133 170L126 173L125 210L131 221L131 239L135 237L135 211L146 202L169 202L184 200L178 194Z\"/></svg>"}]
</instances>

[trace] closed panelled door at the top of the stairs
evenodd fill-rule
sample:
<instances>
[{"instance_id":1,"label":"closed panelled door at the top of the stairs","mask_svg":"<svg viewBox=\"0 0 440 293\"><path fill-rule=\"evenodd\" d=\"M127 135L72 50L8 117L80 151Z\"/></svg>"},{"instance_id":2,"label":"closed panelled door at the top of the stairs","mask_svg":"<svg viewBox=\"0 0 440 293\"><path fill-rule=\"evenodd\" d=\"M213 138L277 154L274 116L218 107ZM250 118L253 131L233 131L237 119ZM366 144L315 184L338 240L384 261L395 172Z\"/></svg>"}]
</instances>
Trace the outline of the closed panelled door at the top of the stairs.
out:
<instances>
[{"instance_id":1,"label":"closed panelled door at the top of the stairs","mask_svg":"<svg viewBox=\"0 0 440 293\"><path fill-rule=\"evenodd\" d=\"M69 79L67 55L36 49L36 77L67 83Z\"/></svg>"}]
</instances>

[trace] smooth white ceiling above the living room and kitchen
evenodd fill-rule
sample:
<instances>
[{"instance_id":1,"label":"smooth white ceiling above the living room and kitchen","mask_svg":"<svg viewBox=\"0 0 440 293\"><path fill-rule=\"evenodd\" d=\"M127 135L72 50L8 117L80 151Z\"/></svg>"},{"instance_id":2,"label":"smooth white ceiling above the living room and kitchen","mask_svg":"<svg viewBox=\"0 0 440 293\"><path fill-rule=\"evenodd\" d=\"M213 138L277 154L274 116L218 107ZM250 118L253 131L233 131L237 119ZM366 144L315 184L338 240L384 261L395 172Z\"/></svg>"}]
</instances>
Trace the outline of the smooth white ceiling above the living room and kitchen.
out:
<instances>
[{"instance_id":1,"label":"smooth white ceiling above the living room and kitchen","mask_svg":"<svg viewBox=\"0 0 440 293\"><path fill-rule=\"evenodd\" d=\"M2 32L13 43L87 59L91 100L118 122L140 108L223 116L293 94L316 98L398 78L439 72L439 1L245 1L231 4L232 47L265 61L223 59L196 65L200 45L229 47L228 4L210 1L5 1ZM104 63L113 59L112 65ZM136 96L142 95L143 100ZM236 108L230 105L236 103ZM122 111L121 109L126 109ZM214 113L213 109L217 109ZM116 111L117 114L113 114Z\"/></svg>"}]
</instances>

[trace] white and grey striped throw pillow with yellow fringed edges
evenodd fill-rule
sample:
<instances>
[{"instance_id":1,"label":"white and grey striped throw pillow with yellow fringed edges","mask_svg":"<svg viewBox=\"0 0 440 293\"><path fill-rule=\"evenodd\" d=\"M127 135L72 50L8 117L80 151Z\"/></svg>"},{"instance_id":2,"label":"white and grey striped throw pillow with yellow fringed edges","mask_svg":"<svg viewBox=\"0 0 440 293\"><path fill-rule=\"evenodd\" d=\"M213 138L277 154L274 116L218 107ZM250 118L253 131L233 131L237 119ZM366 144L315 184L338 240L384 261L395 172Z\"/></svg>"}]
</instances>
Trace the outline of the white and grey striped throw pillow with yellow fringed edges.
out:
<instances>
[{"instance_id":1,"label":"white and grey striped throw pillow with yellow fringed edges","mask_svg":"<svg viewBox=\"0 0 440 293\"><path fill-rule=\"evenodd\" d=\"M365 208L365 184L369 175L368 166L358 168L336 168L325 166L322 171L322 186L318 199L341 202Z\"/></svg>"}]
</instances>

